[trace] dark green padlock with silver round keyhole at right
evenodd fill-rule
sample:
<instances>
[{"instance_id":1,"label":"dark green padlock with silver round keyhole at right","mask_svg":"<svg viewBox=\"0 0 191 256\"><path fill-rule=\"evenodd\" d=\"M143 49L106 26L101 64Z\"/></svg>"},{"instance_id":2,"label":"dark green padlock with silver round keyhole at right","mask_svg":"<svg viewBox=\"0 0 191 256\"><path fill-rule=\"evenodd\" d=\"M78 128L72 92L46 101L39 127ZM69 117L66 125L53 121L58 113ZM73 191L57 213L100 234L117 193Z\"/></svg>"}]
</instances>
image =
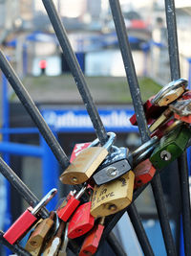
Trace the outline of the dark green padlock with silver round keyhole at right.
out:
<instances>
[{"instance_id":1,"label":"dark green padlock with silver round keyhole at right","mask_svg":"<svg viewBox=\"0 0 191 256\"><path fill-rule=\"evenodd\" d=\"M185 150L186 144L191 137L191 130L181 126L163 136L159 146L153 151L149 160L156 169L162 169L173 162Z\"/></svg>"}]
</instances>

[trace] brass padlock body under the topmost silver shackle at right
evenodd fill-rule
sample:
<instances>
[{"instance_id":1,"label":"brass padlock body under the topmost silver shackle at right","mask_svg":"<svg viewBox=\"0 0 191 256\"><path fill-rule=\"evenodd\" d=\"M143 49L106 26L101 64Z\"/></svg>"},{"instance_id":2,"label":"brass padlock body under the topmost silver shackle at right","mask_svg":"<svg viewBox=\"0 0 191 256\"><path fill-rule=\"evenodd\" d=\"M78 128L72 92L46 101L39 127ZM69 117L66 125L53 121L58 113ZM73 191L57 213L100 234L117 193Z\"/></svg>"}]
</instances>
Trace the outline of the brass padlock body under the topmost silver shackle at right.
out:
<instances>
[{"instance_id":1,"label":"brass padlock body under the topmost silver shackle at right","mask_svg":"<svg viewBox=\"0 0 191 256\"><path fill-rule=\"evenodd\" d=\"M180 96L183 94L184 91L185 91L184 87L180 87L180 88L169 91L163 97L161 97L161 99L158 102L158 105L163 106L163 105L171 104L172 102L180 98Z\"/></svg>"}]
</instances>

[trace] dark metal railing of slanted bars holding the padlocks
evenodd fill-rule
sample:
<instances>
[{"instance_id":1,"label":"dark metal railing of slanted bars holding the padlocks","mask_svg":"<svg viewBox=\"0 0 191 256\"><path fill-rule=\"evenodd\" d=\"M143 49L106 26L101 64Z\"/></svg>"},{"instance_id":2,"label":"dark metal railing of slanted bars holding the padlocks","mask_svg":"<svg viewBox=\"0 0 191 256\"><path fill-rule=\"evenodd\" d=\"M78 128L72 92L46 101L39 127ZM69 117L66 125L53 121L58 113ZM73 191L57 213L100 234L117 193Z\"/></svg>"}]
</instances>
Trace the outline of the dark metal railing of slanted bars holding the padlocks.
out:
<instances>
[{"instance_id":1,"label":"dark metal railing of slanted bars holding the padlocks","mask_svg":"<svg viewBox=\"0 0 191 256\"><path fill-rule=\"evenodd\" d=\"M100 144L103 145L107 140L107 133L105 128L103 127L100 116L97 112L96 105L94 104L91 93L88 89L88 85L85 81L83 73L77 63L77 60L74 56L73 49L68 40L68 36L64 29L64 26L56 12L56 9L53 5L53 0L42 0L45 9L50 17L50 20L53 24L53 29L55 31L55 35L58 38L60 46L63 50L65 58L68 61L68 64L71 68L71 72L74 76L74 81L76 83L77 89L81 95L81 98L84 102L84 105L87 108L87 111L92 120L93 126L96 131L96 136L98 137ZM166 8L166 20L167 20L167 32L168 32L168 45L169 45L169 57L170 57L170 69L171 69L171 78L172 80L176 80L180 78L180 62L179 62L179 49L178 49L178 40L177 40L177 29L176 29L176 12L174 0L165 0L165 8ZM132 58L131 48L128 41L128 35L125 28L122 12L120 9L118 0L110 0L110 7L112 10L113 18L115 21L115 26L117 30L117 37L119 42L119 48L121 51L121 55L124 62L124 67L126 71L127 81L130 87L130 92L132 95L133 104L135 107L135 111L137 114L138 120L138 129L141 136L142 143L148 141L150 139L149 129L146 124L145 115L143 111L143 106L141 102L141 96L138 86L138 78L135 70L134 61ZM65 152L62 150L57 140L53 136L53 132L48 128L45 123L43 117L39 113L36 106L33 104L32 99L28 95L21 81L19 81L18 77L14 73L11 68L10 63L5 58L2 52L0 52L0 67L7 79L10 81L12 88L15 93L19 97L22 104L26 107L29 114L32 116L32 120L36 124L36 127L40 130L43 137L49 144L53 154L57 158L58 162L62 166L62 168L66 168L69 164L69 159L67 158ZM191 255L191 223L190 223L190 198L189 198L189 186L188 186L188 170L187 170L187 159L186 154L183 153L180 156L179 160L179 170L180 170L180 196L182 200L182 220L183 220L183 235L184 235L184 249L186 255ZM0 172L3 173L7 178L11 180L11 177L8 175L10 168L5 165L3 160L0 161ZM11 182L15 182L12 181ZM17 184L22 184L20 181L16 181ZM19 183L20 182L20 183ZM161 226L161 231L163 235L163 240L166 248L167 255L178 255L179 252L175 246L175 242L172 236L172 231L170 228L169 217L163 197L163 191L160 182L159 172L154 176L151 181L152 190L154 194L154 198L156 201L158 214L159 214L159 222ZM139 194L144 190L147 185L138 189L137 192L134 193L134 200L138 198ZM18 190L20 189L17 188ZM25 186L22 186L23 195L27 195L26 199L32 198L32 200L36 200L33 198L32 194L29 192L29 195L26 194L28 189ZM130 219L134 225L135 231L138 236L139 244L145 255L154 255L153 249L149 240L147 238L146 232L144 231L143 225L141 223L141 219L138 215L138 210L134 203L129 205L126 209L117 213L114 216L106 218L106 227L102 236L102 242L107 239L108 243L112 245L113 250L117 253L117 255L125 255L123 249L118 245L117 239L111 234L113 227L116 225L117 221L123 215L124 212L128 212ZM110 235L109 235L110 234ZM2 235L0 236L0 240L3 244L6 244L2 239ZM102 244L102 243L100 243ZM9 244L6 244L9 245ZM9 245L10 246L10 245ZM10 246L12 249L12 246ZM76 252L76 247L74 244L70 244L70 248ZM29 255L29 253L24 252L18 245L15 245L13 248L14 252L18 252L19 255Z\"/></svg>"}]
</instances>

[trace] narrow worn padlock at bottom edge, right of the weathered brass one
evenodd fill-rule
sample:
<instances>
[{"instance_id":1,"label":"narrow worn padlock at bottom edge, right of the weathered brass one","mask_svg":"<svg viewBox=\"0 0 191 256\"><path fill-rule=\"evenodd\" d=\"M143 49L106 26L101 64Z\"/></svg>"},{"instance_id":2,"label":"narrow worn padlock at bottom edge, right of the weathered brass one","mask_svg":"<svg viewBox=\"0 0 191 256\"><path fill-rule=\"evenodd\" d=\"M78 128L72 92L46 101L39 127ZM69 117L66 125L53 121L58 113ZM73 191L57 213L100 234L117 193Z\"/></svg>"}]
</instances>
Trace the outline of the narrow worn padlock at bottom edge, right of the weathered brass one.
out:
<instances>
[{"instance_id":1,"label":"narrow worn padlock at bottom edge, right of the weathered brass one","mask_svg":"<svg viewBox=\"0 0 191 256\"><path fill-rule=\"evenodd\" d=\"M56 235L53 236L51 241L46 245L43 256L56 256L61 244L61 237L64 232L65 222L60 221Z\"/></svg>"}]
</instances>

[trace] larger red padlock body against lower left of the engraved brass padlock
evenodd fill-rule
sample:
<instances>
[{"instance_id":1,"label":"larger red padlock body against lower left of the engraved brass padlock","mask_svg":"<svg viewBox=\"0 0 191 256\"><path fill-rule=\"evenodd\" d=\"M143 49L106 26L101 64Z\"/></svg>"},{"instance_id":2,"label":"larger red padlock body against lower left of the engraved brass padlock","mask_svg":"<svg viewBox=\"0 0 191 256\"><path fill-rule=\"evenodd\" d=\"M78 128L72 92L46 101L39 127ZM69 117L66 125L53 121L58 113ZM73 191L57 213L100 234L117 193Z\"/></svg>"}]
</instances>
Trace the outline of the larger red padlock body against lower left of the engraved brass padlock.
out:
<instances>
[{"instance_id":1,"label":"larger red padlock body against lower left of the engraved brass padlock","mask_svg":"<svg viewBox=\"0 0 191 256\"><path fill-rule=\"evenodd\" d=\"M80 237L93 228L95 218L90 213L91 204L92 202L89 201L77 208L71 221L69 221L68 238Z\"/></svg>"}]
</instances>

